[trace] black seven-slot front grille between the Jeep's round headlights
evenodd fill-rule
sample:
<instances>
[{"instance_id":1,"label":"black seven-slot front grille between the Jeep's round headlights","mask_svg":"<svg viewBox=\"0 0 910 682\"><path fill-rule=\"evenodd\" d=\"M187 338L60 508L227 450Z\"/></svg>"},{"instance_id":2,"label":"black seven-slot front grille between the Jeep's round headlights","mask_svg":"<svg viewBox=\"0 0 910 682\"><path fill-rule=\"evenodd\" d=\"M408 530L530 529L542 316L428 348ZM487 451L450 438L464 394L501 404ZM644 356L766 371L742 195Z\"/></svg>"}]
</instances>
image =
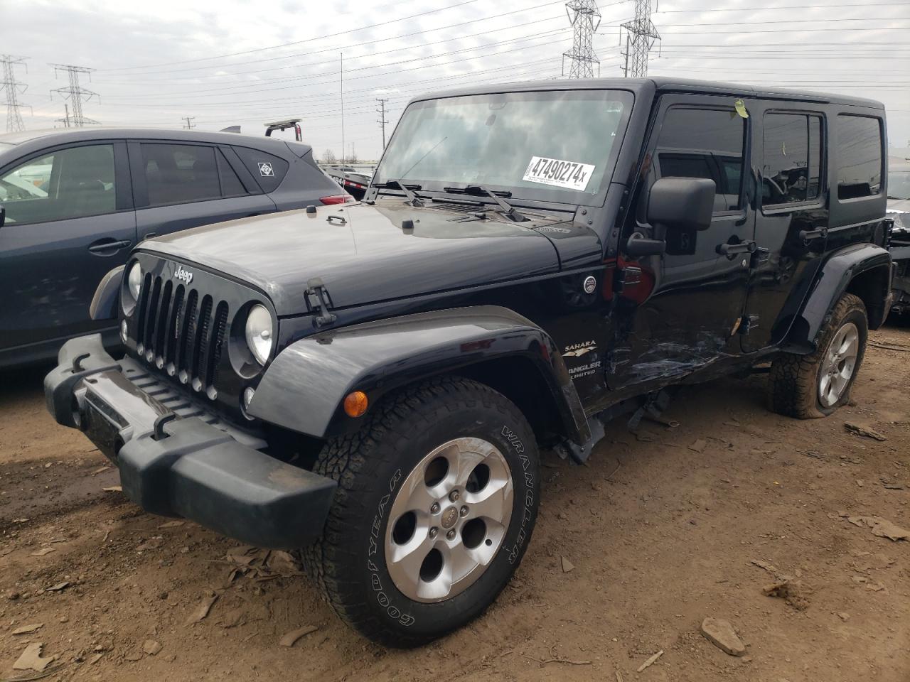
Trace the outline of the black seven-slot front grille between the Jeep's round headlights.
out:
<instances>
[{"instance_id":1,"label":"black seven-slot front grille between the Jeep's round headlights","mask_svg":"<svg viewBox=\"0 0 910 682\"><path fill-rule=\"evenodd\" d=\"M147 273L137 309L136 353L214 399L227 308L227 301Z\"/></svg>"}]
</instances>

